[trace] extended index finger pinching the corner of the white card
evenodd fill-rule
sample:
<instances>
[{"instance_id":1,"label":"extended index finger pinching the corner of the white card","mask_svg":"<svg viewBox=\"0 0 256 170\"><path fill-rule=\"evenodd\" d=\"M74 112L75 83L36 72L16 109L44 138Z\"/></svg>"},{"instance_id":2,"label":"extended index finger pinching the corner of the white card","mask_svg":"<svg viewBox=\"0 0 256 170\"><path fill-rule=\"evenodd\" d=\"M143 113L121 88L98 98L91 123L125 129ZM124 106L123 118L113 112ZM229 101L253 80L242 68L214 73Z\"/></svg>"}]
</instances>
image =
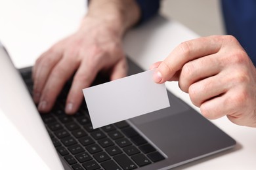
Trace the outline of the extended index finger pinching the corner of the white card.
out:
<instances>
[{"instance_id":1,"label":"extended index finger pinching the corner of the white card","mask_svg":"<svg viewBox=\"0 0 256 170\"><path fill-rule=\"evenodd\" d=\"M159 65L156 76L154 76L155 82L163 83L171 80L173 75L182 69L185 63L218 52L221 44L222 41L215 36L182 42Z\"/></svg>"}]
</instances>

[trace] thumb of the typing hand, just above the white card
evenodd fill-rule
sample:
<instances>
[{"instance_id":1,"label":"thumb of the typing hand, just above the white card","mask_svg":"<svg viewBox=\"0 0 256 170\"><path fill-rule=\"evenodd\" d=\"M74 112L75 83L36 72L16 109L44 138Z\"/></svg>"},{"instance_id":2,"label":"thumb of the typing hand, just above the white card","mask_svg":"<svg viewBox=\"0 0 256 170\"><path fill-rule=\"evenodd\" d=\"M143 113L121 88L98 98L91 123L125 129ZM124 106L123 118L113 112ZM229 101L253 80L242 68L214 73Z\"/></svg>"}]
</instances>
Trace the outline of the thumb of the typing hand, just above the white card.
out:
<instances>
[{"instance_id":1,"label":"thumb of the typing hand, just above the white card","mask_svg":"<svg viewBox=\"0 0 256 170\"><path fill-rule=\"evenodd\" d=\"M124 76L127 75L127 69L128 69L128 65L127 65L126 59L121 59L114 66L112 73L110 75L110 80L123 78Z\"/></svg>"}]
</instances>

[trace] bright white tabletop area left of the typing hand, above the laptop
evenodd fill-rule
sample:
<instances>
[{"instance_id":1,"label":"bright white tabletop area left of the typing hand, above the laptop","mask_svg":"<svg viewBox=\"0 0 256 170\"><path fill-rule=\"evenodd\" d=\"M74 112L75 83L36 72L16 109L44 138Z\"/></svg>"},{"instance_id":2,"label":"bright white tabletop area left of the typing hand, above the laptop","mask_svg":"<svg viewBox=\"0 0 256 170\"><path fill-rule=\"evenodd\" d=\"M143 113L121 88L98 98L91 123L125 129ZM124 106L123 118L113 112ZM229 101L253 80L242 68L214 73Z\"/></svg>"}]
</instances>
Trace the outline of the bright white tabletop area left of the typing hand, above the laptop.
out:
<instances>
[{"instance_id":1,"label":"bright white tabletop area left of the typing hand, above the laptop","mask_svg":"<svg viewBox=\"0 0 256 170\"><path fill-rule=\"evenodd\" d=\"M73 33L87 9L85 0L0 0L0 41L14 65L33 65L55 42Z\"/></svg>"}]
</instances>

